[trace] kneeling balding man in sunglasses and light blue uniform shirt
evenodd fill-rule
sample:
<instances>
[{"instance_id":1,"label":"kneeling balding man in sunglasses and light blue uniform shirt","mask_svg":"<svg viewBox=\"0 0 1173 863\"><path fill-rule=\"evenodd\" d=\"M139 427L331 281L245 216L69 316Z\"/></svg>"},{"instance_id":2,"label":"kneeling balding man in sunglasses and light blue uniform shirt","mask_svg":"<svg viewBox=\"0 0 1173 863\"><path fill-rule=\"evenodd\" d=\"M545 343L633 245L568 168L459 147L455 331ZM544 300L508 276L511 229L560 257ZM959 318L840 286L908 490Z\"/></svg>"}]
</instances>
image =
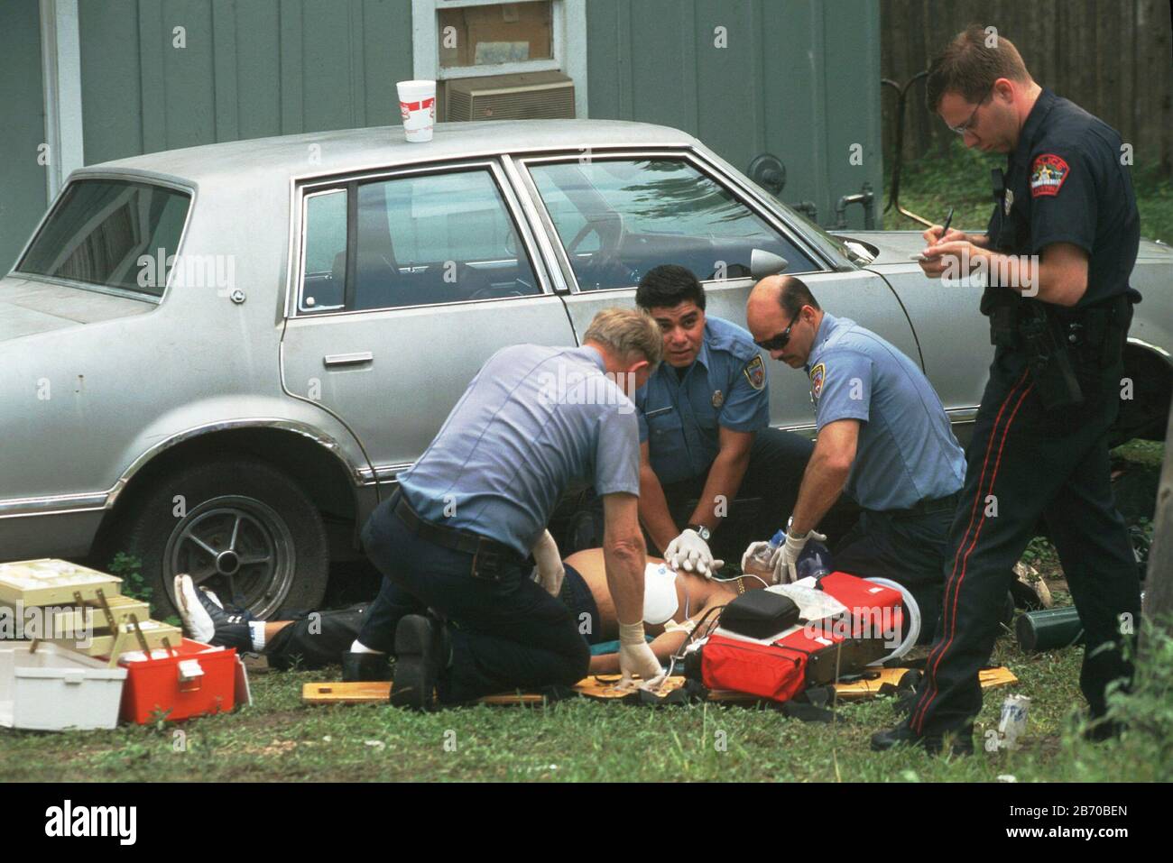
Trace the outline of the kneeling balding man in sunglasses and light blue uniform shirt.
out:
<instances>
[{"instance_id":1,"label":"kneeling balding man in sunglasses and light blue uniform shirt","mask_svg":"<svg viewBox=\"0 0 1173 863\"><path fill-rule=\"evenodd\" d=\"M794 565L841 492L860 521L832 551L836 570L890 578L913 594L933 637L941 609L942 565L965 460L941 400L921 368L870 329L823 312L793 276L759 281L746 305L758 346L811 379L818 439L786 543L773 553L775 582ZM741 558L762 550L752 544Z\"/></svg>"}]
</instances>

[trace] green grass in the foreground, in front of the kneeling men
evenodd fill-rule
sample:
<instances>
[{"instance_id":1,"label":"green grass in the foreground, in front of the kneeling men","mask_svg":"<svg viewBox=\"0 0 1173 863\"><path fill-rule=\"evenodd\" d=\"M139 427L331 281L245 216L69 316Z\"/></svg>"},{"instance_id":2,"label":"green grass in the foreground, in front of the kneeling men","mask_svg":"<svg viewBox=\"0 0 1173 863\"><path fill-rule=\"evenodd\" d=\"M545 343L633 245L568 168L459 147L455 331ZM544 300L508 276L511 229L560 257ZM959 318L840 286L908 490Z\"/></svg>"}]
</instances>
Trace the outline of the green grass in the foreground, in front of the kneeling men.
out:
<instances>
[{"instance_id":1,"label":"green grass in the foreground, in front of the kneeling men","mask_svg":"<svg viewBox=\"0 0 1173 863\"><path fill-rule=\"evenodd\" d=\"M887 699L838 707L839 722L802 723L764 708L696 705L650 711L578 699L545 707L409 714L387 706L306 707L301 684L330 674L253 677L256 705L230 715L113 732L0 734L4 781L524 780L524 781L1026 781L1157 780L1168 760L1138 757L1126 738L1077 740L1079 651L996 658L1019 684L991 691L977 741L997 726L1004 694L1032 696L1018 752L931 759L875 754L868 736L896 716ZM176 732L185 735L178 746ZM718 741L724 739L724 748Z\"/></svg>"}]
</instances>

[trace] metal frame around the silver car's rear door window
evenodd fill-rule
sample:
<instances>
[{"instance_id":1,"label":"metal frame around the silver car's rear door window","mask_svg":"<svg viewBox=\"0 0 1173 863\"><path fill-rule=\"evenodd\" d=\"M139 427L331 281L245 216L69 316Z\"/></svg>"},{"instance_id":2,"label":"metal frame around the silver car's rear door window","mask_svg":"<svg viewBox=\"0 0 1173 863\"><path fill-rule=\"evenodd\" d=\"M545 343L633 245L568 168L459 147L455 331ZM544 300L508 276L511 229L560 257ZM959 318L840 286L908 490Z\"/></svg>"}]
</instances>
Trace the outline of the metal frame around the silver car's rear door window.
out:
<instances>
[{"instance_id":1,"label":"metal frame around the silver car's rear door window","mask_svg":"<svg viewBox=\"0 0 1173 863\"><path fill-rule=\"evenodd\" d=\"M346 206L347 206L347 284L350 284L353 278L353 231L351 220L355 218L357 212L357 196L355 191L359 185L365 183L373 183L379 181L391 181L401 177L413 177L413 176L427 176L436 174L452 174L456 171L468 171L468 170L487 170L490 179L494 182L497 189L497 193L501 196L504 203L506 213L513 223L514 231L516 232L518 239L521 240L517 252L521 254L522 247L524 247L526 257L529 261L530 271L534 273L534 278L537 281L536 287L540 290L536 293L522 294L521 297L486 297L483 299L468 299L457 300L455 303L422 303L414 304L409 306L382 306L379 308L347 308L346 300L341 308L335 308L333 306L325 307L317 311L308 311L303 307L303 293L305 291L305 254L306 254L306 243L305 243L305 231L306 231L306 199L319 192L327 192L334 190L344 190L347 193ZM290 258L291 261L297 261L296 266L291 266L292 285L290 286L287 293L287 301L285 308L285 315L287 319L298 318L327 318L333 315L353 315L353 314L381 314L385 312L395 312L399 310L408 308L442 308L442 307L455 307L466 306L473 303L501 303L511 300L526 300L534 299L536 297L552 295L555 291L551 287L551 281L549 272L547 271L547 259L538 253L537 243L533 236L533 230L528 218L522 208L522 202L518 199L517 192L509 182L500 157L476 157L476 158L459 158L459 159L446 159L440 162L426 162L426 163L412 163L402 167L395 168L380 168L378 170L362 170L354 171L344 175L334 175L332 177L313 177L307 179L299 179L293 182L293 195L297 205L292 208L292 220L293 227L291 230L291 250ZM344 298L346 294L344 294Z\"/></svg>"}]
</instances>

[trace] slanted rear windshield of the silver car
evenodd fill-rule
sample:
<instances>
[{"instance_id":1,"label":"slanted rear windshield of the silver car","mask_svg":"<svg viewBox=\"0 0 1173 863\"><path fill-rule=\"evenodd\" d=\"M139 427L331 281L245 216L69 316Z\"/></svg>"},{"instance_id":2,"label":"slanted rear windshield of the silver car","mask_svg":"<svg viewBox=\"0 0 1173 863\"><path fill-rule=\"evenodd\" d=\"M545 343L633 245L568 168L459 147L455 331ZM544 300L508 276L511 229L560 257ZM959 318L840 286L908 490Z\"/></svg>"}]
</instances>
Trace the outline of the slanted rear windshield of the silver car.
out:
<instances>
[{"instance_id":1,"label":"slanted rear windshield of the silver car","mask_svg":"<svg viewBox=\"0 0 1173 863\"><path fill-rule=\"evenodd\" d=\"M16 272L162 297L190 205L187 192L147 183L73 182Z\"/></svg>"}]
</instances>

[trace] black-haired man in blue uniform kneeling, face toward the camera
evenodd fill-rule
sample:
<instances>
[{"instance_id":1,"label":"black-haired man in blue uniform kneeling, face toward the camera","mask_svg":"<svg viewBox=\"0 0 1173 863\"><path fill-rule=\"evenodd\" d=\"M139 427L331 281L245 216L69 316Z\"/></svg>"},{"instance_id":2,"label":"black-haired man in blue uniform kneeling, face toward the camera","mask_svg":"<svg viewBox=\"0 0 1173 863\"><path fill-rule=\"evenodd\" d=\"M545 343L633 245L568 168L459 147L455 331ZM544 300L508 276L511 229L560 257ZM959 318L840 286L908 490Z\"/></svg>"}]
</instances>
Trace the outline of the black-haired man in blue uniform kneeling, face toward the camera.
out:
<instances>
[{"instance_id":1,"label":"black-haired man in blue uniform kneeling, face toward the camera","mask_svg":"<svg viewBox=\"0 0 1173 863\"><path fill-rule=\"evenodd\" d=\"M761 497L759 521L773 524L794 502L812 443L769 428L766 366L753 339L705 315L705 292L690 270L650 270L636 304L664 335L664 362L636 393L639 518L672 566L711 576L723 560L714 560L710 539L726 508L739 492ZM682 530L672 511L692 500ZM720 553L730 552L735 548L723 544Z\"/></svg>"}]
</instances>

